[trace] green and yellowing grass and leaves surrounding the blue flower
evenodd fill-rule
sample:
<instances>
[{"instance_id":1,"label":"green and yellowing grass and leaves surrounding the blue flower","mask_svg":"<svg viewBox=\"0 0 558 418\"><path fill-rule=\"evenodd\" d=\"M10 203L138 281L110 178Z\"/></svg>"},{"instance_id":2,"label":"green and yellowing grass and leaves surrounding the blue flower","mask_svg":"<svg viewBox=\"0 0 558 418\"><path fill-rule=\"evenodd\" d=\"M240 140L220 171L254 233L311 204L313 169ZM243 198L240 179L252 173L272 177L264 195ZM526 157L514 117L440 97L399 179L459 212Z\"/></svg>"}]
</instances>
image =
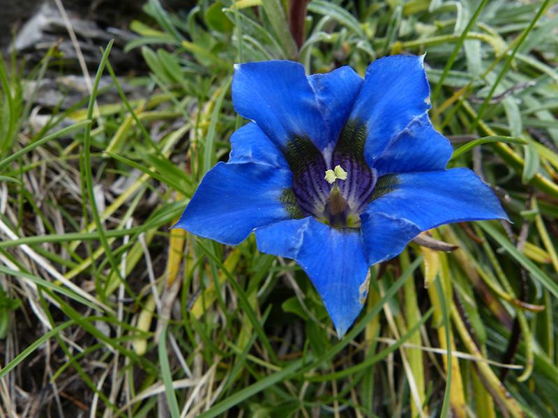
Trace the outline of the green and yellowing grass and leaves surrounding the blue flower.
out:
<instances>
[{"instance_id":1,"label":"green and yellowing grass and leaves surrounding the blue flower","mask_svg":"<svg viewBox=\"0 0 558 418\"><path fill-rule=\"evenodd\" d=\"M297 45L284 3L149 1L126 47L149 72L116 75L103 45L92 94L39 126L25 83L50 55L0 61L0 415L556 415L555 6L313 0ZM424 52L451 167L495 185L513 224L442 226L455 251L375 265L341 341L294 263L169 231L243 123L232 63L362 75Z\"/></svg>"}]
</instances>

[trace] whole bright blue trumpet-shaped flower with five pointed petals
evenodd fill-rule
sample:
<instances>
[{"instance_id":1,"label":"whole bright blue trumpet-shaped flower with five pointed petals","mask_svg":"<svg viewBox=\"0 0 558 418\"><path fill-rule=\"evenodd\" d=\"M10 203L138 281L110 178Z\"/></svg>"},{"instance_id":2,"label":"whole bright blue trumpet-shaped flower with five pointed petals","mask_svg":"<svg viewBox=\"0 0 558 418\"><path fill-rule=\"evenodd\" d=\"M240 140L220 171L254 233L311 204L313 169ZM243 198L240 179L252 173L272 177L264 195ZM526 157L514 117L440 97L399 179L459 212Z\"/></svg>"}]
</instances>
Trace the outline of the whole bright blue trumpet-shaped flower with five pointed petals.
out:
<instances>
[{"instance_id":1,"label":"whole bright blue trumpet-shaped flower with five pointed petals","mask_svg":"<svg viewBox=\"0 0 558 418\"><path fill-rule=\"evenodd\" d=\"M452 147L430 119L423 56L389 56L365 79L349 67L307 77L299 63L235 66L234 109L250 119L229 161L203 178L174 227L293 258L345 334L370 265L427 229L506 219L473 171L446 169Z\"/></svg>"}]
</instances>

